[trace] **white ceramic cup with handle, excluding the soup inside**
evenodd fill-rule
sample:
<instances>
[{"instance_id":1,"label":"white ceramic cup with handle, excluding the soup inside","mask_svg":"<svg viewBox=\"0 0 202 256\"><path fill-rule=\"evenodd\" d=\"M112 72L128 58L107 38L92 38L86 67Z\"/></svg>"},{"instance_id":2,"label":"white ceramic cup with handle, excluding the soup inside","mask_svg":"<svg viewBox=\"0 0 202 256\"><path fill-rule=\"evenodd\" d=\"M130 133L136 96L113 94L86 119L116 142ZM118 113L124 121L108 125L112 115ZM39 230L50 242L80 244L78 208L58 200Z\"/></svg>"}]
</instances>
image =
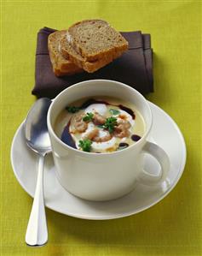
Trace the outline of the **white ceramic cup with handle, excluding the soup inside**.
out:
<instances>
[{"instance_id":1,"label":"white ceramic cup with handle, excluding the soup inside","mask_svg":"<svg viewBox=\"0 0 202 256\"><path fill-rule=\"evenodd\" d=\"M56 117L66 105L93 96L111 96L134 104L146 124L141 140L124 150L99 154L79 151L63 143L54 131ZM160 146L147 141L152 123L147 100L130 86L114 80L87 80L70 86L55 98L48 113L49 137L59 182L68 192L89 200L116 199L133 190L136 182L148 186L164 182L170 161ZM161 166L159 176L143 170L144 152L158 160Z\"/></svg>"}]
</instances>

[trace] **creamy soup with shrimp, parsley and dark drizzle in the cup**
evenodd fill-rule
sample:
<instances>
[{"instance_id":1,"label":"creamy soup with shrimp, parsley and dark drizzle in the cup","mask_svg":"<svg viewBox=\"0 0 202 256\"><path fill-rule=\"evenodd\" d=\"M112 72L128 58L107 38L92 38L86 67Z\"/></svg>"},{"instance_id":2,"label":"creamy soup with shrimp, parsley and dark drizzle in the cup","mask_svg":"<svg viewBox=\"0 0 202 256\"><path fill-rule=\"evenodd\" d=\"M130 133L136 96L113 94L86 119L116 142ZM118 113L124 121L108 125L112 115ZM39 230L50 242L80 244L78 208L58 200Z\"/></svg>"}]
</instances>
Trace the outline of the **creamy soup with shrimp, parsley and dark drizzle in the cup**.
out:
<instances>
[{"instance_id":1,"label":"creamy soup with shrimp, parsley and dark drizzle in the cup","mask_svg":"<svg viewBox=\"0 0 202 256\"><path fill-rule=\"evenodd\" d=\"M140 140L145 122L133 104L118 98L92 97L67 105L54 128L68 146L106 153L123 150Z\"/></svg>"}]
</instances>

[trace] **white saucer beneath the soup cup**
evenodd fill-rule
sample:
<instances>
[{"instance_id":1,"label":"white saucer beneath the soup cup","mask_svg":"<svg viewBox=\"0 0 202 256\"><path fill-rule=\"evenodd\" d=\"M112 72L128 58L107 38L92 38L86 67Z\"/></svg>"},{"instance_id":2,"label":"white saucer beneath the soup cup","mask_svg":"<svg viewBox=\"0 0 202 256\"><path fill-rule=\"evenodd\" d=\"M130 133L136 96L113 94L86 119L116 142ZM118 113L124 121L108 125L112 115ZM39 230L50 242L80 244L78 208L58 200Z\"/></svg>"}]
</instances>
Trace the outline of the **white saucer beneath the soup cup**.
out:
<instances>
[{"instance_id":1,"label":"white saucer beneath the soup cup","mask_svg":"<svg viewBox=\"0 0 202 256\"><path fill-rule=\"evenodd\" d=\"M180 129L170 116L155 104L149 104L153 112L151 140L159 144L170 158L170 174L165 182L155 187L137 184L133 192L120 199L106 202L87 201L73 196L61 187L55 176L52 155L49 154L44 166L45 205L72 217L111 219L144 211L164 199L182 176L186 162L186 146ZM11 163L21 187L33 197L37 182L38 156L26 146L23 123L14 135ZM154 158L146 155L145 169L154 174L159 170L159 164Z\"/></svg>"}]
</instances>

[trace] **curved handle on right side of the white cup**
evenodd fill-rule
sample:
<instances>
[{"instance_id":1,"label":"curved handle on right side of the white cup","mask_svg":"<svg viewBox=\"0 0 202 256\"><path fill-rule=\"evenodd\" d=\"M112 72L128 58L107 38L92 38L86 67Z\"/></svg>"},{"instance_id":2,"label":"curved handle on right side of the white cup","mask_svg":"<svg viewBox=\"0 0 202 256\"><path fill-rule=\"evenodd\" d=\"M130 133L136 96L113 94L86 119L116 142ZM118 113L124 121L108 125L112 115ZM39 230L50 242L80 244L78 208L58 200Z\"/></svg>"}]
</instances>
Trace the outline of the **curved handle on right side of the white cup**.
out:
<instances>
[{"instance_id":1,"label":"curved handle on right side of the white cup","mask_svg":"<svg viewBox=\"0 0 202 256\"><path fill-rule=\"evenodd\" d=\"M147 186L153 186L164 182L170 170L170 160L166 152L164 152L160 146L149 141L147 141L146 145L143 147L142 153L143 152L147 152L156 158L160 164L161 170L159 176L154 176L147 171L142 170L138 179L139 182Z\"/></svg>"}]
</instances>

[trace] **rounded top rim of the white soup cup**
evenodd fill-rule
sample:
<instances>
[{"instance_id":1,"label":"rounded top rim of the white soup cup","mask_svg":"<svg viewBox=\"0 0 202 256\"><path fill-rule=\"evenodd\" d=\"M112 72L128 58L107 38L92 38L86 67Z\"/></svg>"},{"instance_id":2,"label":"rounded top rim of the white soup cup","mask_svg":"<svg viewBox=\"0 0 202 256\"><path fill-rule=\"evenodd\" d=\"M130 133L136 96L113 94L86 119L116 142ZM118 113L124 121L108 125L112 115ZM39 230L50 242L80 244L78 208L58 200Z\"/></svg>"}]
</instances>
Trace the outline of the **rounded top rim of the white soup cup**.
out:
<instances>
[{"instance_id":1,"label":"rounded top rim of the white soup cup","mask_svg":"<svg viewBox=\"0 0 202 256\"><path fill-rule=\"evenodd\" d=\"M118 84L119 86L123 86L123 87L127 87L131 92L136 92L136 94L138 95L138 97L140 97L144 103L147 105L147 109L148 109L148 115L150 117L150 124L147 128L147 131L146 133L141 137L140 140L136 141L136 143L134 143L133 145L130 145L126 148L124 148L123 150L120 150L120 151L115 151L115 152L110 152L110 153L107 153L107 152L101 152L101 153L95 153L95 152L84 152L84 151L81 151L81 150L78 150L77 148L73 148L72 146L68 146L66 143L64 143L56 134L55 134L55 131L54 131L54 128L52 127L51 123L50 123L50 115L51 115L51 111L54 107L54 104L55 104L55 101L57 101L59 98L61 98L61 95L63 93L65 93L66 91L68 90L72 90L73 87L76 87L76 86L83 86L85 83L89 83L89 82L96 82L96 81L101 81L101 82L111 82L111 83L114 83L114 84ZM96 80L84 80L84 81L81 81L81 82L78 82L76 84L73 84L72 86L69 86L67 87L66 89L64 89L63 91L61 91L54 99L53 99L53 102L52 104L50 104L50 107L49 107L49 111L48 111L48 115L47 115L47 125L48 125L48 129L49 129L49 133L52 134L55 138L55 140L61 145L61 146L64 146L66 149L72 151L72 152L75 152L75 153L78 153L80 154L81 156L92 156L92 157L102 157L102 156L114 156L114 155L118 155L118 154L121 154L123 152L127 152L127 151L130 151L131 149L135 148L136 146L139 146L141 144L141 142L143 140L146 140L147 138L147 135L149 134L151 128L152 128L152 125L153 125L153 115L152 115L152 110L150 109L149 107L149 104L147 103L147 99L143 97L143 95L141 95L140 92L138 92L136 89L134 89L133 87L131 86L128 86L122 82L119 82L119 81L116 81L116 80L105 80L105 79L96 79Z\"/></svg>"}]
</instances>

